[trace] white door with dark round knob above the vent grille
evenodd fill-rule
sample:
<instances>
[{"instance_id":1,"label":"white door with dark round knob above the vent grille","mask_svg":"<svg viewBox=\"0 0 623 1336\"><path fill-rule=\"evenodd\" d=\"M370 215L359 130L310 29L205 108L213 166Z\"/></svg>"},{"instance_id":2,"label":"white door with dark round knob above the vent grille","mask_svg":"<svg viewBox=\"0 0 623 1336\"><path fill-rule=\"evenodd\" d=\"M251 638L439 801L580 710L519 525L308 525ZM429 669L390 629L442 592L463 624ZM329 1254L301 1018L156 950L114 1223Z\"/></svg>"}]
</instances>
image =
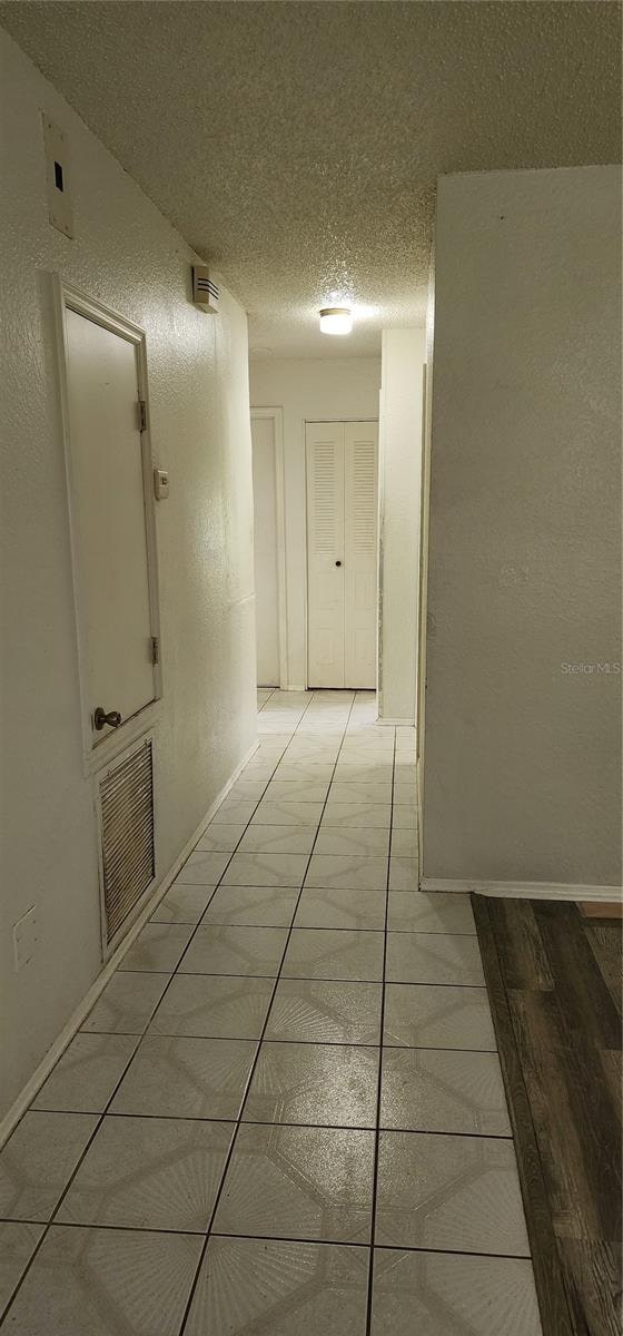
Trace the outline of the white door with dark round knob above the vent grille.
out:
<instances>
[{"instance_id":1,"label":"white door with dark round knob above the vent grille","mask_svg":"<svg viewBox=\"0 0 623 1336\"><path fill-rule=\"evenodd\" d=\"M65 307L65 351L89 712L127 720L156 696L137 342Z\"/></svg>"}]
</instances>

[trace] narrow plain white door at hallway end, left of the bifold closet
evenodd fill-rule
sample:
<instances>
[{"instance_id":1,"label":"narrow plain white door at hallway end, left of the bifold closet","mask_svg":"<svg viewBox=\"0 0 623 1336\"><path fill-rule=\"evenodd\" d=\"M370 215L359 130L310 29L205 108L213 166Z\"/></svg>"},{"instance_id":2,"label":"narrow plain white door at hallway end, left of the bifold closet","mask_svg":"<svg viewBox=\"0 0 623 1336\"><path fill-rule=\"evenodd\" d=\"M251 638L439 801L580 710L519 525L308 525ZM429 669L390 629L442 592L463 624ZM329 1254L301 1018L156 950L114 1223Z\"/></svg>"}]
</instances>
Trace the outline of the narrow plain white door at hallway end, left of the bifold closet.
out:
<instances>
[{"instance_id":1,"label":"narrow plain white door at hallway end, left of the bifold closet","mask_svg":"<svg viewBox=\"0 0 623 1336\"><path fill-rule=\"evenodd\" d=\"M279 687L279 557L275 420L251 420L257 685Z\"/></svg>"}]
</instances>

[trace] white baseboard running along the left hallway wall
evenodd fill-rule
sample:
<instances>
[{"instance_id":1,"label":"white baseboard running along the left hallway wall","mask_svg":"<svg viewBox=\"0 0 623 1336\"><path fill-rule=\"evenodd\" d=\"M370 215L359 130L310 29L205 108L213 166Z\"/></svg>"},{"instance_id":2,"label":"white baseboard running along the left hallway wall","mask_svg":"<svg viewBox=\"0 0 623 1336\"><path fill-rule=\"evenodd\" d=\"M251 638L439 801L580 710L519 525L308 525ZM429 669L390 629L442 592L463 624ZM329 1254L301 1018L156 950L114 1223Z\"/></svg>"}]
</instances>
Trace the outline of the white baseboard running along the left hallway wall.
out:
<instances>
[{"instance_id":1,"label":"white baseboard running along the left hallway wall","mask_svg":"<svg viewBox=\"0 0 623 1336\"><path fill-rule=\"evenodd\" d=\"M0 1148L4 1145L11 1133L15 1130L17 1122L24 1116L28 1106L32 1104L35 1096L39 1093L44 1081L47 1081L47 1078L49 1077L52 1067L57 1063L60 1055L67 1049L67 1045L71 1043L73 1035L79 1031L83 1021L87 1018L88 1013L97 1002L97 998L104 991L107 983L115 974L117 965L120 965L127 951L129 951L129 947L136 941L140 930L145 926L148 918L151 916L151 914L153 914L153 910L160 903L160 900L164 899L171 883L175 882L175 878L177 876L177 872L180 871L181 866L185 863L188 855L192 854L195 844L201 838L205 826L208 824L208 822L212 820L212 816L215 816L215 814L217 812L220 804L227 798L232 784L236 783L236 779L244 770L247 762L251 760L251 756L255 755L257 747L259 747L259 740L256 740L253 745L249 747L247 755L243 758L240 764L236 766L233 775L231 776L231 779L227 780L227 784L221 788L219 796L215 798L212 806L205 812L205 816L203 816L203 819L199 822L199 826L192 832L191 838L185 842L184 848L175 859L175 863L172 863L172 866L164 874L163 879L159 882L155 891L152 891L152 895L149 896L147 904L143 906L140 914L132 923L123 942L120 942L113 955L111 955L109 961L105 962L104 969L100 971L95 982L91 985L88 993L85 993L83 1001L79 1003L76 1010L69 1017L67 1025L60 1031L57 1039L55 1039L52 1046L48 1049L45 1057L41 1058L41 1062L32 1073L32 1077L27 1081L25 1086L23 1088L15 1102L11 1105L11 1109L8 1109L4 1118L0 1121Z\"/></svg>"}]
</instances>

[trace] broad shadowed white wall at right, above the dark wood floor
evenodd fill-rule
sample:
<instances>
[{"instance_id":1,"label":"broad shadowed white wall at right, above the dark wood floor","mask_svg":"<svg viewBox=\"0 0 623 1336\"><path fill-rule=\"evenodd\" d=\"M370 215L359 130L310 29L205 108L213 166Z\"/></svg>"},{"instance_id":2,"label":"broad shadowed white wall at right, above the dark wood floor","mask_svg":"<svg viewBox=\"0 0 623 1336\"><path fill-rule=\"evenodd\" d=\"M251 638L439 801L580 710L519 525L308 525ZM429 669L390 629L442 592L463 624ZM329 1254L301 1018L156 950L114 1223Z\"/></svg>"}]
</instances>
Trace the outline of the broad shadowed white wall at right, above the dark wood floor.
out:
<instances>
[{"instance_id":1,"label":"broad shadowed white wall at right, above the dark wood floor","mask_svg":"<svg viewBox=\"0 0 623 1336\"><path fill-rule=\"evenodd\" d=\"M424 876L620 884L620 171L440 178Z\"/></svg>"}]
</instances>

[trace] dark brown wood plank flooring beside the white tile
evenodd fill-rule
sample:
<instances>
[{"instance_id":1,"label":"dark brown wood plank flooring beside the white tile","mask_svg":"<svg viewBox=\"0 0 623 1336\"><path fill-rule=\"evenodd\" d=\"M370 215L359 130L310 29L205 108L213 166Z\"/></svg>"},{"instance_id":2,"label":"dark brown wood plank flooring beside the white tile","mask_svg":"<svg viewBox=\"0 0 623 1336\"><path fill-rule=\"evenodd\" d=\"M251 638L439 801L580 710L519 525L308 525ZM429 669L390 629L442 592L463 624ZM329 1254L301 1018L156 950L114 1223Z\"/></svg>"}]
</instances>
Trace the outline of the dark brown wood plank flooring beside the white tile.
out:
<instances>
[{"instance_id":1,"label":"dark brown wood plank flooring beside the white tile","mask_svg":"<svg viewBox=\"0 0 623 1336\"><path fill-rule=\"evenodd\" d=\"M620 919L472 903L543 1333L620 1336Z\"/></svg>"}]
</instances>

